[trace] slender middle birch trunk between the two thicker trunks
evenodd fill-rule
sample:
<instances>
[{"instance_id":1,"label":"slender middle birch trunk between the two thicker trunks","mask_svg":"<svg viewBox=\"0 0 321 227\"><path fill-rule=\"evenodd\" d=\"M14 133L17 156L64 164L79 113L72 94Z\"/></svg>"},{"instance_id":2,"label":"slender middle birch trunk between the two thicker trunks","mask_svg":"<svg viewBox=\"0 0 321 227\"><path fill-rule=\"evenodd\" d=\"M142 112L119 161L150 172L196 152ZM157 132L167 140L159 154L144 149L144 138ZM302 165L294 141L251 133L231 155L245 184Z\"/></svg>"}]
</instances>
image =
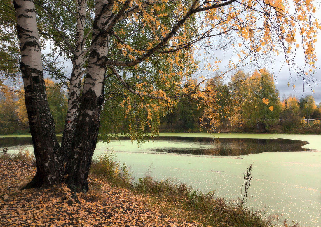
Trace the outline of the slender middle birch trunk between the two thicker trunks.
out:
<instances>
[{"instance_id":1,"label":"slender middle birch trunk between the two thicker trunks","mask_svg":"<svg viewBox=\"0 0 321 227\"><path fill-rule=\"evenodd\" d=\"M81 78L83 75L82 65L84 63L84 28L87 1L77 1L77 27L76 27L76 48L73 59L73 71L70 77L68 111L65 120L65 129L61 142L61 152L64 157L70 155L71 145L74 138L75 127L79 113Z\"/></svg>"}]
</instances>

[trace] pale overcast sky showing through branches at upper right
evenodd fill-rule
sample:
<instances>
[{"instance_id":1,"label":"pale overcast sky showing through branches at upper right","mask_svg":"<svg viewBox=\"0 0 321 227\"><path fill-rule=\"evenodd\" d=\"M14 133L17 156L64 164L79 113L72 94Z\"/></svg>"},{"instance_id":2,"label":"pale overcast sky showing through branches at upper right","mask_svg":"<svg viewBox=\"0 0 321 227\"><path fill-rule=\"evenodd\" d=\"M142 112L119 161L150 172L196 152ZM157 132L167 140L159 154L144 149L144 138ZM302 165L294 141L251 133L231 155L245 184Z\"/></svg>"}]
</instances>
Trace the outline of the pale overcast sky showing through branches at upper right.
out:
<instances>
[{"instance_id":1,"label":"pale overcast sky showing through branches at upper right","mask_svg":"<svg viewBox=\"0 0 321 227\"><path fill-rule=\"evenodd\" d=\"M315 6L317 7L317 12L315 13L315 16L318 17L318 19L320 20L320 16L321 15L321 7L320 7L320 3L321 0L317 0L317 3L315 3ZM290 12L291 12L291 7L290 7ZM317 61L315 63L315 66L319 69L317 69L315 71L315 79L320 81L321 83L321 33L317 34L317 42L316 44L316 54L317 54L317 58L319 59L319 61ZM297 38L299 39L299 38ZM244 48L244 46L242 46L240 49ZM299 48L298 48L299 49ZM293 50L293 47L292 47ZM201 56L199 54L202 54ZM200 68L204 67L204 65L207 65L209 62L213 65L213 60L207 60L205 61L204 59L209 59L210 57L217 57L218 59L222 59L222 62L220 64L220 71L224 72L224 66L227 66L229 64L230 59L233 60L234 62L238 62L239 58L236 56L236 54L234 54L231 58L231 55L233 55L233 53L231 52L231 50L227 50L225 52L223 51L215 51L213 52L213 54L208 51L204 54L204 50L201 50L200 52L198 52L196 56L197 60L201 61L200 64ZM317 85L316 83L310 83L311 87L307 84L307 82L303 82L303 80L301 78L297 78L297 74L294 71L290 71L288 68L288 64L284 62L284 54L280 53L279 56L273 56L273 62L271 62L271 58L266 58L265 60L266 63L261 64L263 67L266 67L271 73L273 73L274 75L274 82L276 85L276 88L279 90L280 92L280 98L282 99L283 94L285 94L286 97L288 97L289 95L296 95L298 98L305 96L305 95L312 95L315 98L315 101L317 104L319 104L321 102L321 87L320 87L320 83L319 85ZM270 62L269 62L270 61ZM295 62L297 64L301 64L303 65L305 62L304 59L304 52L301 51L301 53L297 54L295 57ZM261 62L262 63L262 62ZM247 65L246 67L241 68L243 71L245 72L249 72L252 73L255 69L257 69L257 67L255 66L251 66L251 65ZM230 76L232 74L234 74L235 71L227 73L226 77L224 77L224 80L226 82L228 82L230 80ZM209 72L208 70L204 70L199 72L199 74L202 74L203 76L210 78L214 76L213 72ZM199 76L199 74L195 75L195 77ZM288 86L288 83L290 83L291 85ZM293 89L292 84L295 85L295 89ZM313 93L313 91L315 93Z\"/></svg>"}]
</instances>

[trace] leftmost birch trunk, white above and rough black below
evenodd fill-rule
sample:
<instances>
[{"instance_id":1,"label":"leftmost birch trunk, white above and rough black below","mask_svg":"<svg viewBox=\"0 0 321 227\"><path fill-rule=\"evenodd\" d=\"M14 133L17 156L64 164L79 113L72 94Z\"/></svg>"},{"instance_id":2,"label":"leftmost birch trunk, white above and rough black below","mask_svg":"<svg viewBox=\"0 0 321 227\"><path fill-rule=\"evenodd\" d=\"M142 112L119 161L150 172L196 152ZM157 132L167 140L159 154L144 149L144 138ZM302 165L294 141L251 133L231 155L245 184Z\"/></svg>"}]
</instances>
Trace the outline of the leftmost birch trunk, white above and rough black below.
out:
<instances>
[{"instance_id":1,"label":"leftmost birch trunk, white above and rough black below","mask_svg":"<svg viewBox=\"0 0 321 227\"><path fill-rule=\"evenodd\" d=\"M59 184L63 162L56 138L55 124L49 110L41 49L33 0L14 0L17 17L23 86L37 172L25 187Z\"/></svg>"}]
</instances>

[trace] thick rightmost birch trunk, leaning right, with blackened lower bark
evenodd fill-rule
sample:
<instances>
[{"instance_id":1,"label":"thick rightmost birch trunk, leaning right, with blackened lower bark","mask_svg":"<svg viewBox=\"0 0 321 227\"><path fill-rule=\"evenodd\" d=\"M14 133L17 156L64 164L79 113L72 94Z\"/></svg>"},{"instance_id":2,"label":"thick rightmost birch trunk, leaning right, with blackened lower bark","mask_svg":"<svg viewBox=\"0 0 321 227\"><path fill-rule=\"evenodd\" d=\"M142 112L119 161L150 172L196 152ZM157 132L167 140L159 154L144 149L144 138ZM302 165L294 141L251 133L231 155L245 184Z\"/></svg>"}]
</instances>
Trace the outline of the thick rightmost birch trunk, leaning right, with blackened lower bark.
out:
<instances>
[{"instance_id":1,"label":"thick rightmost birch trunk, leaning right, with blackened lower bark","mask_svg":"<svg viewBox=\"0 0 321 227\"><path fill-rule=\"evenodd\" d=\"M109 42L109 34L101 31L106 30L108 26L106 21L111 16L112 6L110 7L108 2L110 1L96 1L91 50L80 101L79 118L65 169L66 183L74 191L88 190L87 178L91 157L97 143L106 72L105 67L101 66L101 62L107 58Z\"/></svg>"}]
</instances>

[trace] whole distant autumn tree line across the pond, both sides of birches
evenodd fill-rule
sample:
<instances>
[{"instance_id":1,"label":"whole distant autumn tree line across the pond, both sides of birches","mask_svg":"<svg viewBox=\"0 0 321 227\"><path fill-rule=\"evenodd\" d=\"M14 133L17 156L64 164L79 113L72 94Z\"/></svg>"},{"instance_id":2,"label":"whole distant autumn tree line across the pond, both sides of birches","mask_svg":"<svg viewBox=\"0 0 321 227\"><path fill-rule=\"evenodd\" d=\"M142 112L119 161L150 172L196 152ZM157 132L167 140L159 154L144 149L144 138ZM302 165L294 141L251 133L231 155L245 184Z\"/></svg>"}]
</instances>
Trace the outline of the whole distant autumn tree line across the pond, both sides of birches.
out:
<instances>
[{"instance_id":1,"label":"whole distant autumn tree line across the pond, both sides of birches","mask_svg":"<svg viewBox=\"0 0 321 227\"><path fill-rule=\"evenodd\" d=\"M48 103L56 125L57 133L62 133L67 112L67 93L59 83L45 80ZM196 81L194 81L196 83ZM195 85L195 84L194 84ZM280 99L273 75L267 70L254 71L252 74L238 71L228 83L217 76L206 84L210 87L203 97L182 97L176 105L162 109L160 113L160 131L181 132L228 132L228 131L273 131L279 129L290 132L296 129L320 128L321 105L314 97L307 95L298 98L295 95ZM184 84L182 89L193 89L193 80ZM18 92L2 93L0 99L0 133L22 134L29 132L28 115L24 102L23 88ZM108 96L108 92L106 92ZM137 118L137 128L128 128L125 110L117 109L119 119L108 115L110 99L106 99L102 110L100 135L108 140L107 133L130 133L129 130L149 131L147 124L141 127ZM109 105L110 106L110 105ZM112 105L116 106L116 105ZM272 110L271 110L272 106ZM135 112L135 110L134 110ZM146 113L138 113L144 115ZM272 128L271 128L272 127Z\"/></svg>"}]
</instances>

